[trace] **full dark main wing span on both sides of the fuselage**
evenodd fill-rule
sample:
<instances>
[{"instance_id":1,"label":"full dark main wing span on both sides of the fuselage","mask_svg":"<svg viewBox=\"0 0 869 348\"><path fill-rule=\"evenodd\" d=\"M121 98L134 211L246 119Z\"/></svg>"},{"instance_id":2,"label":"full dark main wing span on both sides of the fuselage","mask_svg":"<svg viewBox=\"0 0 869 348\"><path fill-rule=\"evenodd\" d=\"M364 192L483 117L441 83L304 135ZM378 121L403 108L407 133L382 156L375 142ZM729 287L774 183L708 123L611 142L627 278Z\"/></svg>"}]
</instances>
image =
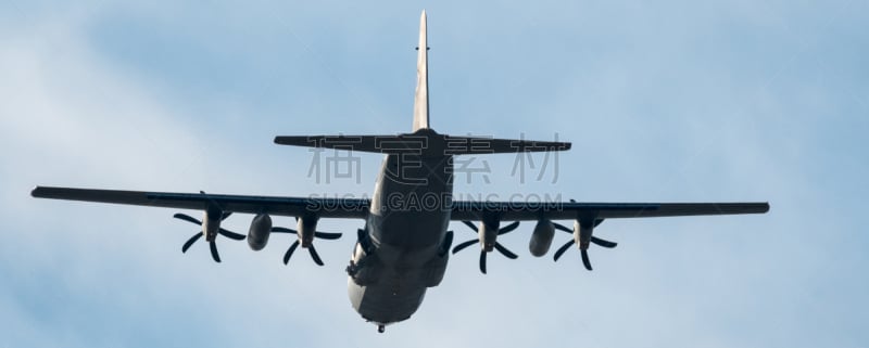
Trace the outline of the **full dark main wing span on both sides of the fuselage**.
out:
<instances>
[{"instance_id":1,"label":"full dark main wing span on both sides of the fuselage","mask_svg":"<svg viewBox=\"0 0 869 348\"><path fill-rule=\"evenodd\" d=\"M93 190L37 186L34 197L140 205L163 208L204 210L210 205L223 211L303 216L315 214L320 218L364 219L369 199L278 197L207 193L174 193ZM479 220L484 215L495 215L502 221L574 220L580 217L594 219L651 218L700 215L764 214L768 203L576 203L576 202L453 202L452 220Z\"/></svg>"}]
</instances>

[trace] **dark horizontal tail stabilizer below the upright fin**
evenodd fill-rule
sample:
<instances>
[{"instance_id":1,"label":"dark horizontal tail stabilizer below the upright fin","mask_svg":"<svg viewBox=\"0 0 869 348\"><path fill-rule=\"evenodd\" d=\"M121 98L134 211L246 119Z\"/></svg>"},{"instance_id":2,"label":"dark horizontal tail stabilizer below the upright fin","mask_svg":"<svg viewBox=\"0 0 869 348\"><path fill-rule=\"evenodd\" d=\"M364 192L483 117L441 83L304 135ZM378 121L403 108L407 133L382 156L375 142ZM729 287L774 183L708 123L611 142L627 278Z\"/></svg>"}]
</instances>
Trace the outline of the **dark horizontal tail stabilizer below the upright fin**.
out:
<instances>
[{"instance_id":1,"label":"dark horizontal tail stabilizer below the upright fin","mask_svg":"<svg viewBox=\"0 0 869 348\"><path fill-rule=\"evenodd\" d=\"M396 136L295 136L276 137L280 145L324 147L383 154L419 154L423 156L482 155L517 152L570 150L568 142L453 137L431 129Z\"/></svg>"}]
</instances>

